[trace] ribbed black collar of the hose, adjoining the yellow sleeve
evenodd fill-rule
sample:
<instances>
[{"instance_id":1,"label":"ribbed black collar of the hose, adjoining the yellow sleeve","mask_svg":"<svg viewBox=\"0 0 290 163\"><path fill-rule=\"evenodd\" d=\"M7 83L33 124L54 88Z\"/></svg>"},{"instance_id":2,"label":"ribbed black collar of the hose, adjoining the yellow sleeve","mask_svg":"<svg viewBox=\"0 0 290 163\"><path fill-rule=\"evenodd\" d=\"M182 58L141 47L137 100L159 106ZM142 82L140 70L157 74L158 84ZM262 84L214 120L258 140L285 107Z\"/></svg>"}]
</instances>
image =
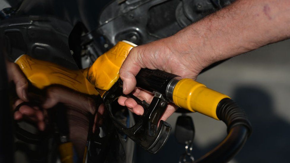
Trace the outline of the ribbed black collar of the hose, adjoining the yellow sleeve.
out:
<instances>
[{"instance_id":1,"label":"ribbed black collar of the hose, adjoining the yellow sleeve","mask_svg":"<svg viewBox=\"0 0 290 163\"><path fill-rule=\"evenodd\" d=\"M252 132L252 126L244 110L242 110L232 99L224 98L217 107L217 116L227 125L227 131L236 125L244 125L248 128L248 136Z\"/></svg>"}]
</instances>

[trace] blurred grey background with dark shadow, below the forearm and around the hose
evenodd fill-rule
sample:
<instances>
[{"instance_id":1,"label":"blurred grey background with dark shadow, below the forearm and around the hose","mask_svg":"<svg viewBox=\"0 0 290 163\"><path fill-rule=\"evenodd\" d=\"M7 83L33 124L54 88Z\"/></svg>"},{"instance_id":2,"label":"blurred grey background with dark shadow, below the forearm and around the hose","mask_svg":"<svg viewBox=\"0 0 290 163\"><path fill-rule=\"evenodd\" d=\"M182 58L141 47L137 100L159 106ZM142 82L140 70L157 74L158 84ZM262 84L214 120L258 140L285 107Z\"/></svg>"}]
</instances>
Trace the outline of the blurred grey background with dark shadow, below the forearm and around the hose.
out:
<instances>
[{"instance_id":1,"label":"blurred grey background with dark shadow, below the forearm and around the hose","mask_svg":"<svg viewBox=\"0 0 290 163\"><path fill-rule=\"evenodd\" d=\"M9 7L0 0L0 7ZM289 162L290 40L232 58L205 72L198 81L232 97L248 114L253 134L231 162ZM226 126L199 113L189 114L196 127L193 156L199 158L226 135ZM167 121L173 126L179 114ZM174 135L156 155L140 148L137 163L178 162L184 146ZM16 162L22 162L18 156Z\"/></svg>"}]
</instances>

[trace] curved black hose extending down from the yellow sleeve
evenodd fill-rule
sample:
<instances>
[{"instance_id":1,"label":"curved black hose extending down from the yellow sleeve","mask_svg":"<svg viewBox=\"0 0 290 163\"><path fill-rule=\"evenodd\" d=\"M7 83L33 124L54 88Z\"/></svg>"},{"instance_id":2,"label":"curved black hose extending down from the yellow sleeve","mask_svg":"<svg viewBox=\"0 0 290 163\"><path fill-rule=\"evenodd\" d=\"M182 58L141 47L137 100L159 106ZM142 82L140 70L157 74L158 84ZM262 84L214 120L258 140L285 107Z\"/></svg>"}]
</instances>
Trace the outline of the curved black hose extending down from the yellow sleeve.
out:
<instances>
[{"instance_id":1,"label":"curved black hose extending down from the yellow sleeve","mask_svg":"<svg viewBox=\"0 0 290 163\"><path fill-rule=\"evenodd\" d=\"M216 148L194 163L228 162L239 152L252 132L245 112L233 100L222 99L216 113L218 118L227 125L228 135Z\"/></svg>"}]
</instances>

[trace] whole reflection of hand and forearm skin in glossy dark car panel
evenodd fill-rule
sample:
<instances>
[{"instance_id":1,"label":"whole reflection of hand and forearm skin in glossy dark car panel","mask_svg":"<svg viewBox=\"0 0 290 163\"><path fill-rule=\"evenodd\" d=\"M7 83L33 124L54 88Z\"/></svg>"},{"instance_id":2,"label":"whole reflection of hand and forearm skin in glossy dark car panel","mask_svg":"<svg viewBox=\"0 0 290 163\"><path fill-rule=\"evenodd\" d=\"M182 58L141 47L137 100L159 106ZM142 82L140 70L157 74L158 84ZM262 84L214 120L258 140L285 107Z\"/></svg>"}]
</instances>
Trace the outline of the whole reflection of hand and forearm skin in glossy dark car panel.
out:
<instances>
[{"instance_id":1,"label":"whole reflection of hand and forearm skin in glossy dark car panel","mask_svg":"<svg viewBox=\"0 0 290 163\"><path fill-rule=\"evenodd\" d=\"M15 100L13 109L22 102L29 102L31 94L28 92L28 81L19 69L18 65L6 62L8 78L15 83L16 93L19 99ZM100 105L96 110L95 102L91 97L79 94L78 92L63 87L51 86L46 90L46 97L41 106L30 107L23 105L19 111L14 113L15 120L32 121L37 124L40 131L45 130L46 110L51 109L58 103L62 103L67 108L67 120L70 129L70 141L73 142L79 158L83 157L86 139L89 130L89 114L94 115L93 132L98 131L102 125L104 105ZM40 110L42 107L44 110Z\"/></svg>"}]
</instances>

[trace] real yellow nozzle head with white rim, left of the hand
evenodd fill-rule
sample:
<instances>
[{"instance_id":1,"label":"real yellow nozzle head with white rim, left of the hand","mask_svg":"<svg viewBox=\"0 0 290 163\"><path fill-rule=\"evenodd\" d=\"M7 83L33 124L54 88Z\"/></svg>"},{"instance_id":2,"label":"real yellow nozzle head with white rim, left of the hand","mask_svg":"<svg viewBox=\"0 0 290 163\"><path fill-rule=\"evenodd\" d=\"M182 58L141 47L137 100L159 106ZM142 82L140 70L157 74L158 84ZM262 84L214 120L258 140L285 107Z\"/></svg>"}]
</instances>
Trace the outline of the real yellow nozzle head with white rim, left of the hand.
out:
<instances>
[{"instance_id":1,"label":"real yellow nozzle head with white rim, left of the hand","mask_svg":"<svg viewBox=\"0 0 290 163\"><path fill-rule=\"evenodd\" d=\"M86 78L97 88L102 97L105 91L108 91L119 79L119 69L135 46L137 45L131 42L120 41L97 58L88 70L83 70Z\"/></svg>"}]
</instances>

